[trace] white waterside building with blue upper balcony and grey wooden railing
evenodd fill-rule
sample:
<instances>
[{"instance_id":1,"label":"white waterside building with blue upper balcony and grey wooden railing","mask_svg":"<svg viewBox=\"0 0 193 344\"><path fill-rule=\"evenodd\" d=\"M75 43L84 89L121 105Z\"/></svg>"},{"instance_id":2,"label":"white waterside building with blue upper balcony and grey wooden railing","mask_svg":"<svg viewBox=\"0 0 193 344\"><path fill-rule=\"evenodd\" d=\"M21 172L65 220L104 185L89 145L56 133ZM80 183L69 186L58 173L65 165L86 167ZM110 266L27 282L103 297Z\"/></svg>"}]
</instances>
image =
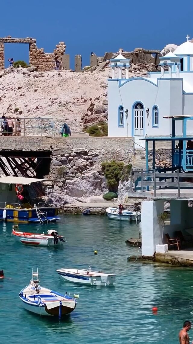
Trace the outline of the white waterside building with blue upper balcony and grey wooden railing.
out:
<instances>
[{"instance_id":1,"label":"white waterside building with blue upper balcony and grey wooden railing","mask_svg":"<svg viewBox=\"0 0 193 344\"><path fill-rule=\"evenodd\" d=\"M193 264L193 135L187 135L188 123L193 116L170 116L172 136L146 137L146 169L131 172L128 197L144 199L141 207L142 256L156 254L179 256L179 250L187 249L189 236L189 256ZM183 128L183 136L176 135L176 128ZM155 164L155 142L168 141L171 144L171 167L162 168ZM148 143L152 143L152 151ZM152 168L149 169L149 155L152 154ZM164 213L164 202L170 203L167 221L160 223ZM177 251L175 251L177 249ZM186 255L186 252L183 251ZM159 256L160 259L161 256ZM163 257L161 257L163 258ZM169 259L169 258L167 258ZM187 264L187 262L185 263Z\"/></svg>"}]
</instances>

